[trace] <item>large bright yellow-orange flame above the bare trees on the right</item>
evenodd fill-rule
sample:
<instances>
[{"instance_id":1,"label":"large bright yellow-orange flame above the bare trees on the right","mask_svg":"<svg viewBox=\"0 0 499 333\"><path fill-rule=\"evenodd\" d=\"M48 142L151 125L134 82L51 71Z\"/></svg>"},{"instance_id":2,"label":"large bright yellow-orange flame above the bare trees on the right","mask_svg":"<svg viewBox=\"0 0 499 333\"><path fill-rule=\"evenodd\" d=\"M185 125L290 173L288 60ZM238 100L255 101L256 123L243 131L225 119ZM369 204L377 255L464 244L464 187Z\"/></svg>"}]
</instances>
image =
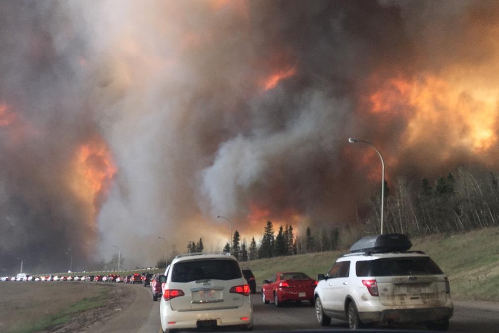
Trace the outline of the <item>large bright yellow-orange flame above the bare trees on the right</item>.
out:
<instances>
[{"instance_id":1,"label":"large bright yellow-orange flame above the bare trees on the right","mask_svg":"<svg viewBox=\"0 0 499 333\"><path fill-rule=\"evenodd\" d=\"M499 88L426 74L413 79L390 78L368 100L370 113L382 120L408 119L403 135L407 145L431 143L443 135L451 147L481 152L498 141L497 96Z\"/></svg>"}]
</instances>

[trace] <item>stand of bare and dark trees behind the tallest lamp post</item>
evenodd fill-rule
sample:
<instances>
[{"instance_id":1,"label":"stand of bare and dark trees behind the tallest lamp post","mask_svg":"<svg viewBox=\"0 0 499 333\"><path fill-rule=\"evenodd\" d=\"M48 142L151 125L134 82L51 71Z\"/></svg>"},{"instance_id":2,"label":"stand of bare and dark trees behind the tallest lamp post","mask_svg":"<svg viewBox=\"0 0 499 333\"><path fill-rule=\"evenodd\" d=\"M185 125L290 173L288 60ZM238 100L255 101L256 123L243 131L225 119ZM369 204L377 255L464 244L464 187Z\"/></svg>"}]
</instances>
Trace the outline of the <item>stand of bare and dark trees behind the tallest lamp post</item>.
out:
<instances>
[{"instance_id":1,"label":"stand of bare and dark trees behind the tallest lamp post","mask_svg":"<svg viewBox=\"0 0 499 333\"><path fill-rule=\"evenodd\" d=\"M421 187L397 179L386 190L384 232L412 237L499 225L499 177L491 171L460 168ZM379 233L379 196L371 200L364 233Z\"/></svg>"}]
</instances>

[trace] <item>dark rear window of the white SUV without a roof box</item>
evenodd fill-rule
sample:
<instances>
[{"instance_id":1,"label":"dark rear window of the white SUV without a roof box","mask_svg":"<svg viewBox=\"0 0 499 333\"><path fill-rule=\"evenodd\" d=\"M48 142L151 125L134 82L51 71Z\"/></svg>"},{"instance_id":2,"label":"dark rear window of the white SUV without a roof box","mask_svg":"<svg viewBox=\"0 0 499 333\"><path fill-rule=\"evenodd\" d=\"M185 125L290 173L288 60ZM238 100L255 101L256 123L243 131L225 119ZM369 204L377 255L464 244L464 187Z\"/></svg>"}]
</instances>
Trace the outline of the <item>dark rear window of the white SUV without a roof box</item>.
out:
<instances>
[{"instance_id":1,"label":"dark rear window of the white SUV without a roof box","mask_svg":"<svg viewBox=\"0 0 499 333\"><path fill-rule=\"evenodd\" d=\"M238 262L227 259L184 261L173 265L172 282L241 279Z\"/></svg>"}]
</instances>

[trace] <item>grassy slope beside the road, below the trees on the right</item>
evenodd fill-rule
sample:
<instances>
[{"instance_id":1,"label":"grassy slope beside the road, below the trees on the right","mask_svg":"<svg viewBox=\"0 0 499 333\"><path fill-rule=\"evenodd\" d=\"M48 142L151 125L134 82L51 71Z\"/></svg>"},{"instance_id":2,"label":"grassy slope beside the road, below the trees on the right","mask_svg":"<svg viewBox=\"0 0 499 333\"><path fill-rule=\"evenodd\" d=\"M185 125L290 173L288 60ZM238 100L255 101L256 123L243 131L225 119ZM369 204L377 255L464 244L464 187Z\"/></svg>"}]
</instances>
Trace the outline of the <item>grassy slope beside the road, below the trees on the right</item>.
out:
<instances>
[{"instance_id":1,"label":"grassy slope beside the road, below the trees on the right","mask_svg":"<svg viewBox=\"0 0 499 333\"><path fill-rule=\"evenodd\" d=\"M499 302L499 228L412 241L414 250L425 251L447 274L455 299ZM249 267L259 283L277 271L301 271L316 278L345 252L260 259L241 266Z\"/></svg>"}]
</instances>

